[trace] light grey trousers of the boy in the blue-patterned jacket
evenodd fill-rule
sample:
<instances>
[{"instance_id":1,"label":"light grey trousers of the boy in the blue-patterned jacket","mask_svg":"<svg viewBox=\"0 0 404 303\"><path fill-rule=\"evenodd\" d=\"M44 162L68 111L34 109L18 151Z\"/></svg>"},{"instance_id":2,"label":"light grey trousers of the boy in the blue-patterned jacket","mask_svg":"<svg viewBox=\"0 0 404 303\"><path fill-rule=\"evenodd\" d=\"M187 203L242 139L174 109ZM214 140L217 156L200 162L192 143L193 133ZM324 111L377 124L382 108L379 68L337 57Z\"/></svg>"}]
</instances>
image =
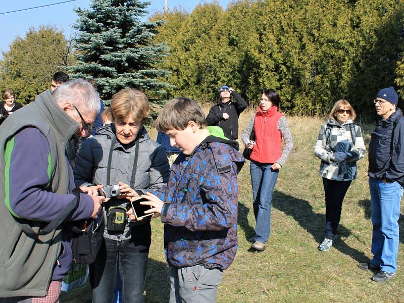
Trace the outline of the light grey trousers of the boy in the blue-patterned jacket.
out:
<instances>
[{"instance_id":1,"label":"light grey trousers of the boy in the blue-patterned jacket","mask_svg":"<svg viewBox=\"0 0 404 303\"><path fill-rule=\"evenodd\" d=\"M223 272L202 265L171 268L170 303L215 303Z\"/></svg>"}]
</instances>

